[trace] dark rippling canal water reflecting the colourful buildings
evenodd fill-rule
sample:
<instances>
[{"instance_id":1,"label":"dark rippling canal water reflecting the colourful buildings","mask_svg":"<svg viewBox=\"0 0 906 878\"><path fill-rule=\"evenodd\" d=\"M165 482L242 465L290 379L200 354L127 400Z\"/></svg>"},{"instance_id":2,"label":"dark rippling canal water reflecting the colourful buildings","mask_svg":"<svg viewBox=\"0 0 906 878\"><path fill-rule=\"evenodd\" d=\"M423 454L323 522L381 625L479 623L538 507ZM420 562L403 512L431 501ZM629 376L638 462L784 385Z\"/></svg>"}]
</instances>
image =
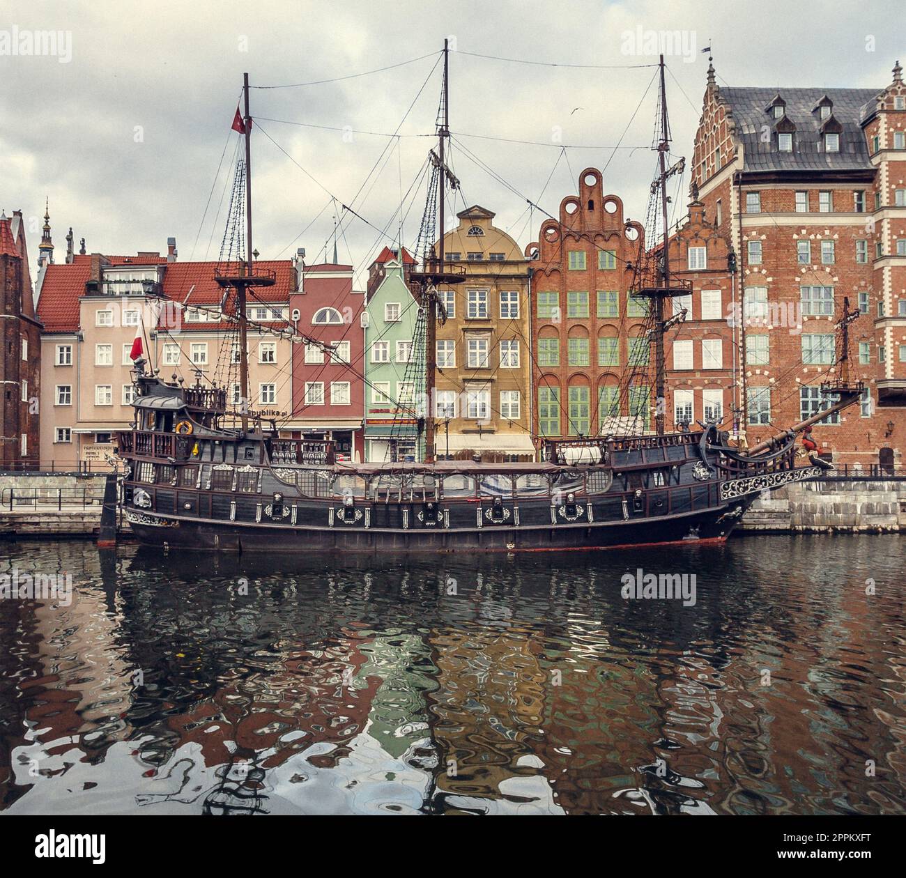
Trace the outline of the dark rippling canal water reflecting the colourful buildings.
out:
<instances>
[{"instance_id":1,"label":"dark rippling canal water reflecting the colourful buildings","mask_svg":"<svg viewBox=\"0 0 906 878\"><path fill-rule=\"evenodd\" d=\"M0 544L0 811L902 813L902 545Z\"/></svg>"}]
</instances>

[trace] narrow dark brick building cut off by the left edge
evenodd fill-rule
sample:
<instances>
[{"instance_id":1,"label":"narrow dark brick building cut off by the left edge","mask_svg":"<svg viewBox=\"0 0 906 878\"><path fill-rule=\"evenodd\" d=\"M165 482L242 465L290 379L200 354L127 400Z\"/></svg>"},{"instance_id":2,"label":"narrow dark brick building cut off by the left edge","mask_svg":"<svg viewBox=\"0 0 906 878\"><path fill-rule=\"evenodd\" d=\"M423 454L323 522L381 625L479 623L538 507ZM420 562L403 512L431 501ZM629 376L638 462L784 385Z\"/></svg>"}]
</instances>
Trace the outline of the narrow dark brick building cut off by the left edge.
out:
<instances>
[{"instance_id":1,"label":"narrow dark brick building cut off by the left edge","mask_svg":"<svg viewBox=\"0 0 906 878\"><path fill-rule=\"evenodd\" d=\"M20 210L0 214L0 332L0 469L33 466L41 450L41 324Z\"/></svg>"}]
</instances>

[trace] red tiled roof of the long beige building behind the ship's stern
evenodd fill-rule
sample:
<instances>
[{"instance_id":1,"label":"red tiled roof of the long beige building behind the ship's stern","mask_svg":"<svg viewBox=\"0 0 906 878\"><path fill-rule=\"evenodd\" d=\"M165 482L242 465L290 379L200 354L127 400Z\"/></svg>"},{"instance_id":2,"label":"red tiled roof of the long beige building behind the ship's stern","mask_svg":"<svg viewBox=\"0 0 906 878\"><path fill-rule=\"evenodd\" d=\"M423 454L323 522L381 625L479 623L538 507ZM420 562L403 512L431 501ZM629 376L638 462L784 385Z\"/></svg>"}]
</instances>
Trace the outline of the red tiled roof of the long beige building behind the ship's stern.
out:
<instances>
[{"instance_id":1,"label":"red tiled roof of the long beige building behind the ship's stern","mask_svg":"<svg viewBox=\"0 0 906 878\"><path fill-rule=\"evenodd\" d=\"M152 265L144 256L106 256L111 265ZM159 257L166 263L166 257ZM288 259L260 260L259 268L276 273L273 286L257 287L249 296L249 305L256 302L288 302L295 289L295 270ZM79 329L79 299L85 292L85 282L91 277L91 256L75 256L72 265L47 265L44 269L41 295L38 299L38 319L47 333L74 333ZM224 291L214 280L216 262L171 262L164 269L163 293L182 303L189 292L187 305L219 304ZM194 288L193 288L194 287ZM183 324L198 330L223 328L229 323Z\"/></svg>"}]
</instances>

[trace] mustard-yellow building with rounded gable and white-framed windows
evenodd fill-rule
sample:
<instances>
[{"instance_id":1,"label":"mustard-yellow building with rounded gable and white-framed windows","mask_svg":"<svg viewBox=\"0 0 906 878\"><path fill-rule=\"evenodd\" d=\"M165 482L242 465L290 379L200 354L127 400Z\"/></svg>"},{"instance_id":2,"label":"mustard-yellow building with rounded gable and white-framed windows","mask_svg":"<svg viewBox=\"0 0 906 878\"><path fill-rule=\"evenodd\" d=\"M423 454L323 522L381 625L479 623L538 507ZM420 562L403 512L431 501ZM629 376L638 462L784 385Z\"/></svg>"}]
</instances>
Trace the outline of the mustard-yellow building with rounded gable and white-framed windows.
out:
<instances>
[{"instance_id":1,"label":"mustard-yellow building with rounded gable and white-framed windows","mask_svg":"<svg viewBox=\"0 0 906 878\"><path fill-rule=\"evenodd\" d=\"M437 331L437 454L532 460L531 263L490 210L476 205L457 216L444 255L465 266L466 282L439 289L447 319Z\"/></svg>"}]
</instances>

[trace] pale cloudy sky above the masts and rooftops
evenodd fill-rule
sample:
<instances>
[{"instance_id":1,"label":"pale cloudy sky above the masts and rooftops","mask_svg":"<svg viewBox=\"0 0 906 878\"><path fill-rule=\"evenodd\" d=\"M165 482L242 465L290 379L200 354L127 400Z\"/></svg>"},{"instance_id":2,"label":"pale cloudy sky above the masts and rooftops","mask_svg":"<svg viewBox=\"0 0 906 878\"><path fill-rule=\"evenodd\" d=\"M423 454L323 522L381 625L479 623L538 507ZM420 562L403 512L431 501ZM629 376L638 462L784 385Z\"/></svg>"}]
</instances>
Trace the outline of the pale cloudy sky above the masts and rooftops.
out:
<instances>
[{"instance_id":1,"label":"pale cloudy sky above the masts and rooftops","mask_svg":"<svg viewBox=\"0 0 906 878\"><path fill-rule=\"evenodd\" d=\"M418 234L424 183L406 194L432 145L445 36L456 50L455 207L496 211L523 246L543 219L525 198L556 214L590 166L606 168L604 188L623 198L628 216L644 217L655 160L655 71L642 66L657 60L645 53L652 31L680 32L667 92L673 151L687 157L705 46L718 82L732 85L880 88L906 56L892 26L901 20L895 0L825 2L807 15L788 2L653 0L4 0L0 8L0 207L28 218L33 266L45 197L57 261L71 226L76 248L85 237L89 252L164 252L176 236L180 259L217 258L244 71L253 86L294 86L251 92L260 120L255 247L263 258L304 246L307 262L330 259L336 216L340 261L361 270L397 235L400 195L403 239ZM11 54L34 30L63 32L56 56ZM344 215L342 204L363 219Z\"/></svg>"}]
</instances>

